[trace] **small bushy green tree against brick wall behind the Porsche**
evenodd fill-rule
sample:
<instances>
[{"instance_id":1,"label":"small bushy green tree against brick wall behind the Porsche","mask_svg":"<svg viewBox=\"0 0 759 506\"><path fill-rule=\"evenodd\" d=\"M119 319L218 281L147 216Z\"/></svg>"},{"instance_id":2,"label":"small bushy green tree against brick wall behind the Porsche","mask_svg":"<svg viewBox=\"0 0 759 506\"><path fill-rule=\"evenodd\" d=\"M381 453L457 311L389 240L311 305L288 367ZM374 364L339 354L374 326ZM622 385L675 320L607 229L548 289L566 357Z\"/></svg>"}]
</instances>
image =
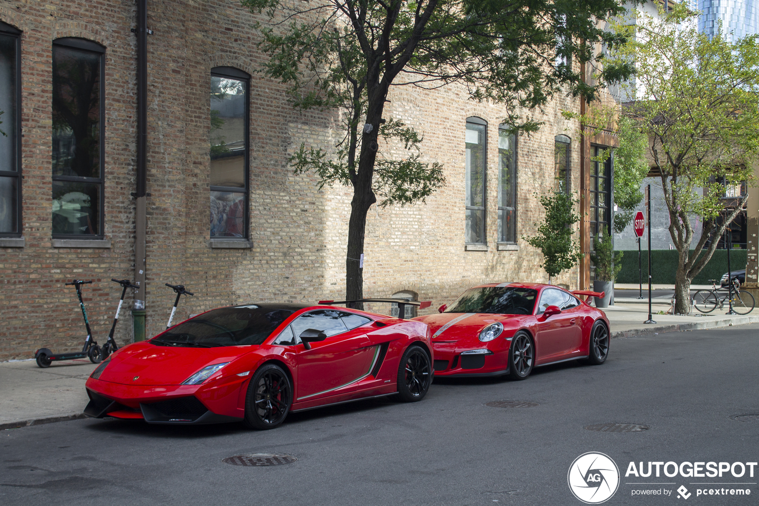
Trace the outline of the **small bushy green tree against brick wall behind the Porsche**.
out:
<instances>
[{"instance_id":1,"label":"small bushy green tree against brick wall behind the Porsche","mask_svg":"<svg viewBox=\"0 0 759 506\"><path fill-rule=\"evenodd\" d=\"M557 190L537 198L546 209L546 216L542 223L535 224L537 235L523 235L522 239L543 253L543 264L540 267L548 273L550 283L551 278L556 278L562 271L572 269L582 257L580 245L572 240L572 225L580 220L575 214L575 204L578 200Z\"/></svg>"}]
</instances>

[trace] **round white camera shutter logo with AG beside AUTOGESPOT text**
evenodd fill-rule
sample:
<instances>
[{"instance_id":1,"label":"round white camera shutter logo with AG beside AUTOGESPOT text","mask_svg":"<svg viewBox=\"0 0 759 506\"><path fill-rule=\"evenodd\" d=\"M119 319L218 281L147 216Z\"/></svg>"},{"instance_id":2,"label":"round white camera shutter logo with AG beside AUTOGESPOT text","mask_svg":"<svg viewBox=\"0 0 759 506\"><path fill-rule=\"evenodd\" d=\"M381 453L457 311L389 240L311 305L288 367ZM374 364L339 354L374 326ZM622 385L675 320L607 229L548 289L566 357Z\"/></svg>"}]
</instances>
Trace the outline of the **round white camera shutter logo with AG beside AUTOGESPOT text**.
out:
<instances>
[{"instance_id":1,"label":"round white camera shutter logo with AG beside AUTOGESPOT text","mask_svg":"<svg viewBox=\"0 0 759 506\"><path fill-rule=\"evenodd\" d=\"M569 466L569 490L585 504L600 504L619 489L619 467L608 455L588 451Z\"/></svg>"}]
</instances>

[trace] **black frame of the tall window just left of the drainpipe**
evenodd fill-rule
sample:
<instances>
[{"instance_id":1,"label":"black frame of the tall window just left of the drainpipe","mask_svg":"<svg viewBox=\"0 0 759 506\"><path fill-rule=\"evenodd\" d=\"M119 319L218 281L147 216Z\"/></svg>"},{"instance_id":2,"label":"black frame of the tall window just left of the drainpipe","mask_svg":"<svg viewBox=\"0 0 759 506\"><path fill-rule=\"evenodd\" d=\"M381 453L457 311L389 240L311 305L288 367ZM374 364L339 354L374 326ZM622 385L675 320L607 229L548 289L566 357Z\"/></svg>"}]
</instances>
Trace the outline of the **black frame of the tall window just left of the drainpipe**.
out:
<instances>
[{"instance_id":1,"label":"black frame of the tall window just left of the drainpipe","mask_svg":"<svg viewBox=\"0 0 759 506\"><path fill-rule=\"evenodd\" d=\"M53 239L83 239L98 240L105 237L106 231L106 46L92 40L79 37L62 37L52 41L52 46L61 46L77 51L90 52L100 57L100 118L99 118L99 178L80 178L78 176L52 176L52 181L74 181L78 183L96 183L100 186L99 195L99 219L97 234L52 234ZM51 55L51 58L53 56ZM51 99L52 100L52 99ZM51 135L52 145L52 135ZM51 159L52 162L52 159ZM51 211L52 213L52 211ZM52 225L52 222L51 222Z\"/></svg>"}]
</instances>

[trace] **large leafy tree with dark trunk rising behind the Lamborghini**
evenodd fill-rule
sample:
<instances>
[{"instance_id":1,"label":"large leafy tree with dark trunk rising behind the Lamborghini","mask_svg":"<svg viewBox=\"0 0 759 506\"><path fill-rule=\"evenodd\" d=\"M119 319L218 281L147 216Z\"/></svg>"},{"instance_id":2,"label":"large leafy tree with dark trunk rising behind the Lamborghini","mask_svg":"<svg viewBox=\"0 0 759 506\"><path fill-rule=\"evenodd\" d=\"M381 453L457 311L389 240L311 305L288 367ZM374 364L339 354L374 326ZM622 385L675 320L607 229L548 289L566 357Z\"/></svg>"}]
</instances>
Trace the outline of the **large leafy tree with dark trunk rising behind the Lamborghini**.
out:
<instances>
[{"instance_id":1,"label":"large leafy tree with dark trunk rising behind the Lamborghini","mask_svg":"<svg viewBox=\"0 0 759 506\"><path fill-rule=\"evenodd\" d=\"M280 80L295 108L333 110L342 119L335 156L301 145L297 174L315 171L320 185L353 187L348 223L346 297L363 296L359 263L367 212L424 202L445 183L442 167L423 162L422 134L383 118L391 86L436 88L458 83L471 99L500 102L505 123L536 131L521 112L556 93L594 99L605 81L628 77L625 61L607 64L585 83L573 60L593 64L598 43L624 34L599 28L622 14L616 0L241 0L254 13L263 74ZM400 146L402 159L392 156Z\"/></svg>"}]
</instances>

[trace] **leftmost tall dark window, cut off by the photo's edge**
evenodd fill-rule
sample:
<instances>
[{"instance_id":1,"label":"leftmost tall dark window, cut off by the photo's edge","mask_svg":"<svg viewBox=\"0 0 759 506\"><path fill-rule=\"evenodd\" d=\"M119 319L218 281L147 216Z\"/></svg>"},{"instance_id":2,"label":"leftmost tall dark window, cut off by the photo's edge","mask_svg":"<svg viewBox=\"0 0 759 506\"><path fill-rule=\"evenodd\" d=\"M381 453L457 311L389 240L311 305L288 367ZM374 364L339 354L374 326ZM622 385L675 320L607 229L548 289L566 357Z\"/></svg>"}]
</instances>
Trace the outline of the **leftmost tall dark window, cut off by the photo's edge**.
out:
<instances>
[{"instance_id":1,"label":"leftmost tall dark window, cut off by the photo's edge","mask_svg":"<svg viewBox=\"0 0 759 506\"><path fill-rule=\"evenodd\" d=\"M0 22L0 236L21 231L20 31Z\"/></svg>"}]
</instances>

